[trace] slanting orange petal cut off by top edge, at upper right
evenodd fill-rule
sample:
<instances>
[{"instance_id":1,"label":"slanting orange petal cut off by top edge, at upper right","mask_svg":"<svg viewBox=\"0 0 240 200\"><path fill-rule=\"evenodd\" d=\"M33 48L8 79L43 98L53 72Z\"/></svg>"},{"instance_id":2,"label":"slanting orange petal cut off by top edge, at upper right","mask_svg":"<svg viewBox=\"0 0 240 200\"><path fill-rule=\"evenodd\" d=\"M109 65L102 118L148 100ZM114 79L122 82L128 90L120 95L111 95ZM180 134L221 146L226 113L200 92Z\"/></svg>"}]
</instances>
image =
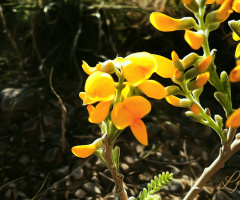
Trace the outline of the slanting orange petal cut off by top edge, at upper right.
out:
<instances>
[{"instance_id":1,"label":"slanting orange petal cut off by top edge, at upper right","mask_svg":"<svg viewBox=\"0 0 240 200\"><path fill-rule=\"evenodd\" d=\"M233 0L225 0L221 7L217 10L215 18L219 22L224 22L229 15L233 12L232 10Z\"/></svg>"}]
</instances>

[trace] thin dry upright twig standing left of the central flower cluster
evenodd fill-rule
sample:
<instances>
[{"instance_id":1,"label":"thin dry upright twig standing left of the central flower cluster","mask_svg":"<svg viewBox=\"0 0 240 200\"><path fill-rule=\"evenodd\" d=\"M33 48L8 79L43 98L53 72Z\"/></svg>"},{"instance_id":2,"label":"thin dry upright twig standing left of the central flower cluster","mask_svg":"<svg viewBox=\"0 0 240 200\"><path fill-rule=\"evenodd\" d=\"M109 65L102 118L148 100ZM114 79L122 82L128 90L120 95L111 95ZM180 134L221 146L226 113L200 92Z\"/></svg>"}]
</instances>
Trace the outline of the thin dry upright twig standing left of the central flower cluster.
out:
<instances>
[{"instance_id":1,"label":"thin dry upright twig standing left of the central flower cluster","mask_svg":"<svg viewBox=\"0 0 240 200\"><path fill-rule=\"evenodd\" d=\"M65 134L66 134L66 127L65 127L65 122L66 122L66 112L67 109L66 107L63 105L63 101L60 98L60 96L57 94L57 92L54 90L53 85L52 85L52 74L53 74L53 68L51 69L50 72L50 77L49 77L49 83L50 83L50 88L52 90L52 92L55 94L55 96L58 98L58 101L61 105L61 110L62 110L62 152L65 152Z\"/></svg>"}]
</instances>

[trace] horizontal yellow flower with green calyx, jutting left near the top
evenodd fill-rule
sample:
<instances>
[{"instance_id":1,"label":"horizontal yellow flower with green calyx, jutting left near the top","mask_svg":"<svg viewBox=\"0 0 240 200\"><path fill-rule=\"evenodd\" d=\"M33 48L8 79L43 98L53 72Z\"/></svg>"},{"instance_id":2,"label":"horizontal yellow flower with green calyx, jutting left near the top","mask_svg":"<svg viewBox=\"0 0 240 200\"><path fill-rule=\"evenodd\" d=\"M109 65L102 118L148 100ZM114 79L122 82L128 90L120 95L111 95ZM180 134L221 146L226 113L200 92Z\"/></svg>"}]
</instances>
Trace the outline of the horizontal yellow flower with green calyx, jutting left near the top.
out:
<instances>
[{"instance_id":1,"label":"horizontal yellow flower with green calyx, jutting left near the top","mask_svg":"<svg viewBox=\"0 0 240 200\"><path fill-rule=\"evenodd\" d=\"M156 29L163 32L190 29L196 25L195 20L191 17L174 19L159 12L150 15L150 22Z\"/></svg>"}]
</instances>

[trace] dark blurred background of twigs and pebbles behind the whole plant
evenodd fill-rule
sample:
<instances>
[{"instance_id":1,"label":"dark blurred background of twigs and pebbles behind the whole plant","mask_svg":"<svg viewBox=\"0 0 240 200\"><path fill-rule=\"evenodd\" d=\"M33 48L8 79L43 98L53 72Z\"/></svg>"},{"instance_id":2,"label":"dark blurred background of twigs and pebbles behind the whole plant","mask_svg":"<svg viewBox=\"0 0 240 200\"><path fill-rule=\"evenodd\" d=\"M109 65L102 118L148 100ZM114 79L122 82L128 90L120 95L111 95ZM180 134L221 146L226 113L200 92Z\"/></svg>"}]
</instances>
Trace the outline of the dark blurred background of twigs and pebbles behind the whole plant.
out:
<instances>
[{"instance_id":1,"label":"dark blurred background of twigs and pebbles behind the whole plant","mask_svg":"<svg viewBox=\"0 0 240 200\"><path fill-rule=\"evenodd\" d=\"M82 60L95 66L140 51L170 58L172 50L183 58L192 52L184 31L159 32L149 15L192 14L180 0L1 0L0 6L0 199L117 199L105 166L94 155L80 159L71 153L72 146L101 136L99 128L88 122L78 97L87 78ZM236 45L227 23L211 34L219 73L235 66ZM202 50L197 53L202 55ZM156 75L152 78L164 86L171 84ZM206 87L203 106L223 116L212 97L214 88ZM239 107L239 84L232 89L234 105ZM169 171L175 180L161 190L162 198L182 199L218 154L220 141L210 128L185 117L186 110L165 100L151 102L153 109L144 119L149 145L138 144L129 129L117 141L126 189L136 197L151 178ZM236 160L240 154L198 199L239 198L239 190L230 194L218 189L225 175L239 170Z\"/></svg>"}]
</instances>

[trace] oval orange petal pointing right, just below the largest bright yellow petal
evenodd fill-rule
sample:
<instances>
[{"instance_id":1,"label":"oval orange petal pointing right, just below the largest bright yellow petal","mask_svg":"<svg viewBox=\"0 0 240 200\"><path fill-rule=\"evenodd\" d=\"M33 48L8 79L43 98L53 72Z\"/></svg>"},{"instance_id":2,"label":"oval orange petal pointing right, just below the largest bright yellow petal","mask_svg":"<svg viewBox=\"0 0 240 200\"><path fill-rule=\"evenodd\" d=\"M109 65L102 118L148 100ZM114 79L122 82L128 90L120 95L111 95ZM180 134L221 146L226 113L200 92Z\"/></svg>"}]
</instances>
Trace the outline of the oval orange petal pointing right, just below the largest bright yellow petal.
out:
<instances>
[{"instance_id":1,"label":"oval orange petal pointing right, just below the largest bright yellow petal","mask_svg":"<svg viewBox=\"0 0 240 200\"><path fill-rule=\"evenodd\" d=\"M154 80L146 80L138 85L140 90L150 98L162 99L168 95L164 86Z\"/></svg>"}]
</instances>

